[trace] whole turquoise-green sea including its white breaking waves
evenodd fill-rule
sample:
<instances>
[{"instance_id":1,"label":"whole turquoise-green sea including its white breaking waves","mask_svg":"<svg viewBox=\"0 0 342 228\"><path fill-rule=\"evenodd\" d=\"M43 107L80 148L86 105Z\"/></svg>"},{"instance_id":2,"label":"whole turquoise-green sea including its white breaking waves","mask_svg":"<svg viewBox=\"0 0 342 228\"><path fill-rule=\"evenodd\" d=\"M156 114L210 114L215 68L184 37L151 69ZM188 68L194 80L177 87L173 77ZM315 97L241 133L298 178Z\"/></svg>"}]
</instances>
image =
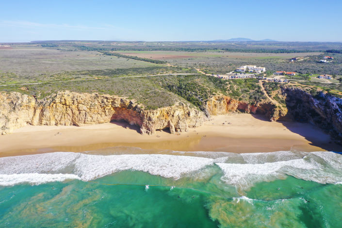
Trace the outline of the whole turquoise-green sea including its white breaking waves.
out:
<instances>
[{"instance_id":1,"label":"whole turquoise-green sea including its white breaking waves","mask_svg":"<svg viewBox=\"0 0 342 228\"><path fill-rule=\"evenodd\" d=\"M0 227L342 227L330 152L0 159Z\"/></svg>"}]
</instances>

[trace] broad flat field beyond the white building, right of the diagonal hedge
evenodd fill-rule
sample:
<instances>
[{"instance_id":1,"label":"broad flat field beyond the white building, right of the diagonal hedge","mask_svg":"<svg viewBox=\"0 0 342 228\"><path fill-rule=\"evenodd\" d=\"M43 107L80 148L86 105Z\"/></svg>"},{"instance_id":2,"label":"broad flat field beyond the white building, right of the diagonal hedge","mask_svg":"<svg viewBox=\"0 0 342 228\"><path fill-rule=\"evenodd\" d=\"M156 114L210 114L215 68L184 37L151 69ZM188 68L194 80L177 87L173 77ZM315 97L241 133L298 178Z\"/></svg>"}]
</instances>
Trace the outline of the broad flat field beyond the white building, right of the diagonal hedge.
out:
<instances>
[{"instance_id":1,"label":"broad flat field beyond the white building, right of the diagonal hedge","mask_svg":"<svg viewBox=\"0 0 342 228\"><path fill-rule=\"evenodd\" d=\"M246 53L224 51L116 51L121 54L167 61L171 65L199 68L209 74L226 74L240 65L264 66L270 71L295 71L301 74L319 73L333 74L342 70L342 63L336 62L335 67L328 67L332 63L319 65L317 60L324 54L321 52L300 53ZM339 59L340 54L334 54ZM304 61L290 62L293 57L309 57ZM322 67L323 66L323 67Z\"/></svg>"}]
</instances>

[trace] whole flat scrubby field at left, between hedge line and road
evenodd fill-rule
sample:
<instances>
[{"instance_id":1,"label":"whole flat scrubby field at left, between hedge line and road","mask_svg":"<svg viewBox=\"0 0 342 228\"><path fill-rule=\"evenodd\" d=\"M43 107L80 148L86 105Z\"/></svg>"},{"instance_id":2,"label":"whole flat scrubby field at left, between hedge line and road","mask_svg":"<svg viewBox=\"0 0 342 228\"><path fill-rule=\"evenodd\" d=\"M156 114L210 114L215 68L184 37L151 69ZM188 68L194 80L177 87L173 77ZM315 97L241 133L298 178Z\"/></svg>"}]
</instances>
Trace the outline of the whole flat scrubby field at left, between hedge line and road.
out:
<instances>
[{"instance_id":1,"label":"whole flat scrubby field at left, between hedge line and road","mask_svg":"<svg viewBox=\"0 0 342 228\"><path fill-rule=\"evenodd\" d=\"M0 50L0 84L184 72L191 70L107 56L97 51L26 46Z\"/></svg>"}]
</instances>

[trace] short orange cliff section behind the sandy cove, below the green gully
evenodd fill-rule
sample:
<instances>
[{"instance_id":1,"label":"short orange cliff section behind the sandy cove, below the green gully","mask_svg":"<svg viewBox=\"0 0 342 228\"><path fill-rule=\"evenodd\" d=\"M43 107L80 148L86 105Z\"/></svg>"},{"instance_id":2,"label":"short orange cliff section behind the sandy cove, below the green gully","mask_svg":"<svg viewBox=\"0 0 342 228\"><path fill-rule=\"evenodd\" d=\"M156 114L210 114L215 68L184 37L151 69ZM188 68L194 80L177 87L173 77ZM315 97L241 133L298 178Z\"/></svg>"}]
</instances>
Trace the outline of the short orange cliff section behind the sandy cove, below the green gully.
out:
<instances>
[{"instance_id":1,"label":"short orange cliff section behind the sandy cove, below the green gully","mask_svg":"<svg viewBox=\"0 0 342 228\"><path fill-rule=\"evenodd\" d=\"M264 114L271 121L286 115L286 109L278 108L270 101L263 101L257 104L250 104L246 101L239 101L227 96L215 96L210 98L204 107L206 113L212 115L227 114L240 111L251 114Z\"/></svg>"}]
</instances>

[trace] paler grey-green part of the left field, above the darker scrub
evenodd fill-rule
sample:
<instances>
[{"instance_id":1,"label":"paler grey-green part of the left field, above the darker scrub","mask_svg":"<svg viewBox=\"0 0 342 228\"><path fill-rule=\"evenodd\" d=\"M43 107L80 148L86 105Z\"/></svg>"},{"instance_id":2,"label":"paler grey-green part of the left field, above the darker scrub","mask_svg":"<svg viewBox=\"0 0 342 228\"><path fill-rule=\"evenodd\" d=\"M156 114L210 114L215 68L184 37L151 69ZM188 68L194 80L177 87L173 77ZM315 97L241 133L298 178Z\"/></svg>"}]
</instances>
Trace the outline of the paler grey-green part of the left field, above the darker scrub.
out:
<instances>
[{"instance_id":1,"label":"paler grey-green part of the left field, above the darker scrub","mask_svg":"<svg viewBox=\"0 0 342 228\"><path fill-rule=\"evenodd\" d=\"M153 64L115 58L92 51L63 51L55 49L7 49L0 50L0 69L29 76L55 74L64 71L130 68Z\"/></svg>"}]
</instances>

